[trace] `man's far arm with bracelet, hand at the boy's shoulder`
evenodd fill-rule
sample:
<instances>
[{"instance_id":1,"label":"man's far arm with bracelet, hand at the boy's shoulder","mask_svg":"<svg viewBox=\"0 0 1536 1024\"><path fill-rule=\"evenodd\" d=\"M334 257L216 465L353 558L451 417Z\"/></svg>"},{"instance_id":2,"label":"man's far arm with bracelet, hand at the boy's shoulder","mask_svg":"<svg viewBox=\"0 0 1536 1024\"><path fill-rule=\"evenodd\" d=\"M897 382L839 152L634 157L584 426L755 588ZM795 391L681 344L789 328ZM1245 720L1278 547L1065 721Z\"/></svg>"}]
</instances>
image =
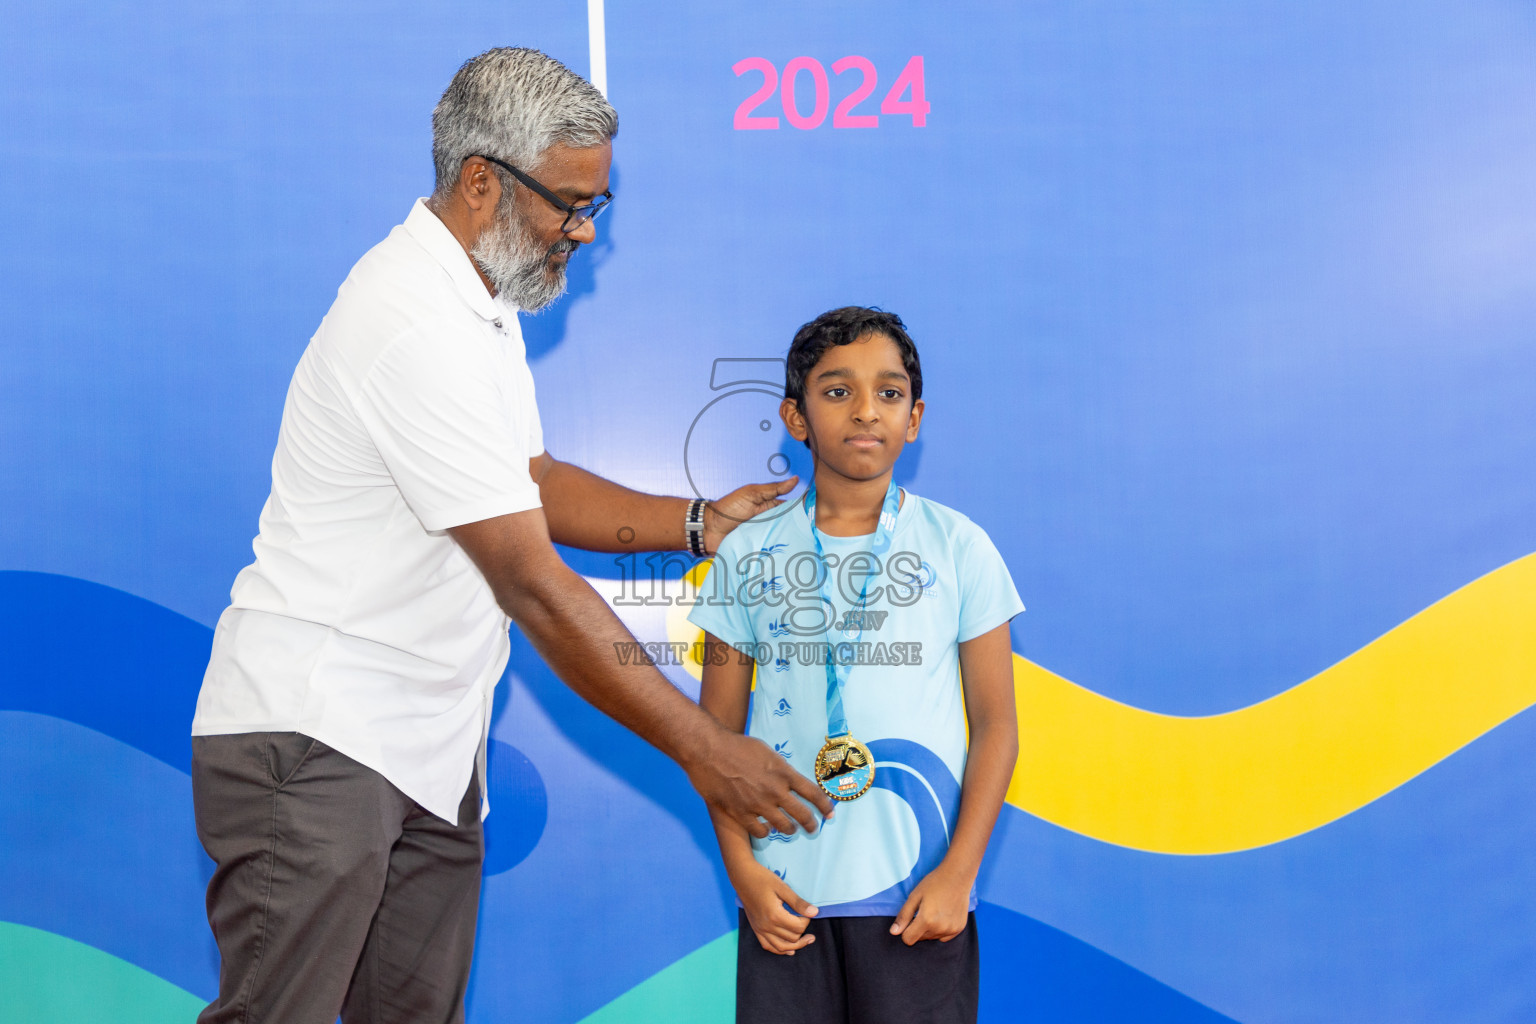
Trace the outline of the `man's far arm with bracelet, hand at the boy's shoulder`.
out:
<instances>
[{"instance_id":1,"label":"man's far arm with bracelet, hand at the boy's shoulder","mask_svg":"<svg viewBox=\"0 0 1536 1024\"><path fill-rule=\"evenodd\" d=\"M687 497L634 491L596 473L561 462L548 451L528 461L539 485L550 539L587 551L684 551L682 520ZM779 504L799 477L777 484L748 484L703 510L703 547L714 551L737 524Z\"/></svg>"}]
</instances>

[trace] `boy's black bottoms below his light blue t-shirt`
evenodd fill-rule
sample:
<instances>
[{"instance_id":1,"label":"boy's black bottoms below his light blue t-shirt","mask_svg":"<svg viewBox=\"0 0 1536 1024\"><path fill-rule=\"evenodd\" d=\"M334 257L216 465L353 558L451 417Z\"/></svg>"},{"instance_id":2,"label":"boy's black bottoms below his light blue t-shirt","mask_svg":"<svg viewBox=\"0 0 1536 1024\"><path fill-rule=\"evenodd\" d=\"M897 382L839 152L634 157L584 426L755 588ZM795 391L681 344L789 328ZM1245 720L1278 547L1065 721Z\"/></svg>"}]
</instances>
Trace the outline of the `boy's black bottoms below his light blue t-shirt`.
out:
<instances>
[{"instance_id":1,"label":"boy's black bottoms below his light blue t-shirt","mask_svg":"<svg viewBox=\"0 0 1536 1024\"><path fill-rule=\"evenodd\" d=\"M759 944L737 912L737 1024L974 1024L982 981L975 915L948 943L908 946L895 918L820 918L794 956Z\"/></svg>"}]
</instances>

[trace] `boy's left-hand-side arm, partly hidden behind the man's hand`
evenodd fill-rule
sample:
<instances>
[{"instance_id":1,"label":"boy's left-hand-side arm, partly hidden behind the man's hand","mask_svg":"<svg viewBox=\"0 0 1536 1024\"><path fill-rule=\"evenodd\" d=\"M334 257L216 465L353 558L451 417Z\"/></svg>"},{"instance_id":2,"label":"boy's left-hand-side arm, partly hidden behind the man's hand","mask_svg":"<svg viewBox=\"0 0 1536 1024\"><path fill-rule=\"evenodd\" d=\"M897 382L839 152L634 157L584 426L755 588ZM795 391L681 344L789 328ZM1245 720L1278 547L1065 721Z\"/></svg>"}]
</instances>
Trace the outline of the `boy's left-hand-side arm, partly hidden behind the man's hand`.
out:
<instances>
[{"instance_id":1,"label":"boy's left-hand-side arm, partly hidden behind the man's hand","mask_svg":"<svg viewBox=\"0 0 1536 1024\"><path fill-rule=\"evenodd\" d=\"M703 640L703 685L699 689L699 705L727 729L745 732L753 662L711 633L705 633ZM805 926L816 917L816 907L790 889L783 878L757 863L746 829L723 814L716 814L714 808L710 808L710 820L714 823L714 838L720 844L725 874L730 875L762 947L771 953L793 956L794 950L816 941L814 935L805 935ZM786 903L796 913L783 909Z\"/></svg>"}]
</instances>

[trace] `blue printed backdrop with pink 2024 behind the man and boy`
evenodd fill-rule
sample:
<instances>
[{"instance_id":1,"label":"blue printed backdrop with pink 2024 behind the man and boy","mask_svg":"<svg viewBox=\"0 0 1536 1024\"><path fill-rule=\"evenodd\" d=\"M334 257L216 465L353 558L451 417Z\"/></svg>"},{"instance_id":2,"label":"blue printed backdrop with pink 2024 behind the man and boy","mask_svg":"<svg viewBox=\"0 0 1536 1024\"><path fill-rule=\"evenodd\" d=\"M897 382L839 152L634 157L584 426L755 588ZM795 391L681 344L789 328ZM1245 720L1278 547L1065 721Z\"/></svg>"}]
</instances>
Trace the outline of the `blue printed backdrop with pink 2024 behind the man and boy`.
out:
<instances>
[{"instance_id":1,"label":"blue printed backdrop with pink 2024 behind the man and boy","mask_svg":"<svg viewBox=\"0 0 1536 1024\"><path fill-rule=\"evenodd\" d=\"M594 23L0 12L0 1016L81 1019L89 990L190 1019L217 960L186 734L287 379L430 190L458 64L525 45L587 74ZM1015 651L1163 715L1264 702L1536 551L1530 3L604 14L617 200L524 319L558 457L674 494L770 479L773 398L714 361L892 309L928 398L902 479L997 542ZM610 557L570 560L617 593ZM664 608L621 613L667 639ZM702 808L513 651L472 1019L728 1019ZM1213 855L1005 808L986 1019L1530 1019L1533 740L1516 717Z\"/></svg>"}]
</instances>

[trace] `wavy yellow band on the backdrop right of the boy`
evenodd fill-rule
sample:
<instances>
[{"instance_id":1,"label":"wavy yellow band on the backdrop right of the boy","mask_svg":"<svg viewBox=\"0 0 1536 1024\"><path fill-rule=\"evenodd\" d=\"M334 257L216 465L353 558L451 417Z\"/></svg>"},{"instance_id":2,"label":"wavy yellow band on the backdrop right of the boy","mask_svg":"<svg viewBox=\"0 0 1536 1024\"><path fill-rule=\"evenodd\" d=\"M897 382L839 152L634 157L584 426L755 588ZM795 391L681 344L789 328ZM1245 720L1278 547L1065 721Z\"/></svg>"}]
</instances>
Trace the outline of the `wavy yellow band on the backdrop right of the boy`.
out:
<instances>
[{"instance_id":1,"label":"wavy yellow band on the backdrop right of the boy","mask_svg":"<svg viewBox=\"0 0 1536 1024\"><path fill-rule=\"evenodd\" d=\"M694 639L685 609L671 613L668 634ZM1536 554L1292 689L1207 717L1132 708L1015 654L1020 758L1008 801L1160 854L1279 843L1358 811L1536 703L1533 626Z\"/></svg>"}]
</instances>

